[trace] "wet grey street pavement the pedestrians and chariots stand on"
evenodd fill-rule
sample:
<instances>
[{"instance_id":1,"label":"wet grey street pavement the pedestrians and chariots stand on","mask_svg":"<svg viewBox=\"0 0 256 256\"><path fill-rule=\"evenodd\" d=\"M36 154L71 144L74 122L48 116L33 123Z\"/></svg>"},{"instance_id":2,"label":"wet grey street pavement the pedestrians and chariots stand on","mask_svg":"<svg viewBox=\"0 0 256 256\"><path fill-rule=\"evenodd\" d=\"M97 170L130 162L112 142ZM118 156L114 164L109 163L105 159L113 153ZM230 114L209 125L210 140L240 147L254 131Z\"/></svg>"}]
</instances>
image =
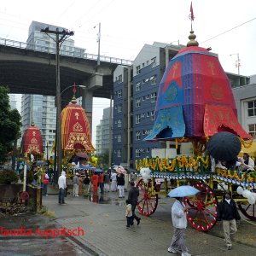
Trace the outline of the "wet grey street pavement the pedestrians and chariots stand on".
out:
<instances>
[{"instance_id":1,"label":"wet grey street pavement the pedestrians and chariots stand on","mask_svg":"<svg viewBox=\"0 0 256 256\"><path fill-rule=\"evenodd\" d=\"M49 194L56 192L49 190ZM57 195L43 198L44 206L55 212L55 221L61 227L84 229L84 236L75 238L98 255L170 255L167 247L172 239L172 199L161 198L154 214L149 218L141 216L141 224L131 229L125 228L125 199L119 199L117 193L105 193L99 203L73 195L67 195L66 202L67 206L59 205ZM233 256L256 252L255 226L248 229L247 224L241 224L236 237L238 242L233 243L231 251L226 250L221 224L208 233L188 228L186 234L192 255ZM254 247L240 243L247 240Z\"/></svg>"}]
</instances>

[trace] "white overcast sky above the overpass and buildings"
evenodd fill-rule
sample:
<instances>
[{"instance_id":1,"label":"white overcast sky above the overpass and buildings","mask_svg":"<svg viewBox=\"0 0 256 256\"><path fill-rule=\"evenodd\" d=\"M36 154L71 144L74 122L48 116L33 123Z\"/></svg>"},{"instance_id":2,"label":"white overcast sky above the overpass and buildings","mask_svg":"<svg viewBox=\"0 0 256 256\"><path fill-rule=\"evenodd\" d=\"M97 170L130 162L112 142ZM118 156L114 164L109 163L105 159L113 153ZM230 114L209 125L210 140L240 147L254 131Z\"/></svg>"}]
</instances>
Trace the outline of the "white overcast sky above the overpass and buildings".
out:
<instances>
[{"instance_id":1,"label":"white overcast sky above the overpass and buildings","mask_svg":"<svg viewBox=\"0 0 256 256\"><path fill-rule=\"evenodd\" d=\"M101 55L134 60L144 44L154 41L187 44L190 3L190 0L1 1L0 38L26 42L28 27L36 20L75 32L75 45L97 54L96 25L101 22ZM256 1L194 0L193 9L197 40L201 47L212 47L224 71L237 73L239 54L240 73L256 74ZM102 108L107 108L108 102L94 101L93 136L102 119Z\"/></svg>"}]
</instances>

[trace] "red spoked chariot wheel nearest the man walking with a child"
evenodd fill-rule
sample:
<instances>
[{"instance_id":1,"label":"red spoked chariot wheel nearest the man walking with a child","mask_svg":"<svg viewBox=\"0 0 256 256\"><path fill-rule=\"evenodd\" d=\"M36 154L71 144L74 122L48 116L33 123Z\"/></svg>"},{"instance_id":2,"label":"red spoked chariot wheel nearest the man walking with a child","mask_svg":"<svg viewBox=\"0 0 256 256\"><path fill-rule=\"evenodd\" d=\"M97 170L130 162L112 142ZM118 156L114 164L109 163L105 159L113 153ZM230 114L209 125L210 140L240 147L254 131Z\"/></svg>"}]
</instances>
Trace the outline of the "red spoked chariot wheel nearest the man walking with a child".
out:
<instances>
[{"instance_id":1,"label":"red spoked chariot wheel nearest the man walking with a child","mask_svg":"<svg viewBox=\"0 0 256 256\"><path fill-rule=\"evenodd\" d=\"M140 179L137 183L137 188L139 189L137 208L144 216L153 214L158 205L155 183L152 189L152 182L152 179L148 179L148 183L144 183L143 179Z\"/></svg>"}]
</instances>

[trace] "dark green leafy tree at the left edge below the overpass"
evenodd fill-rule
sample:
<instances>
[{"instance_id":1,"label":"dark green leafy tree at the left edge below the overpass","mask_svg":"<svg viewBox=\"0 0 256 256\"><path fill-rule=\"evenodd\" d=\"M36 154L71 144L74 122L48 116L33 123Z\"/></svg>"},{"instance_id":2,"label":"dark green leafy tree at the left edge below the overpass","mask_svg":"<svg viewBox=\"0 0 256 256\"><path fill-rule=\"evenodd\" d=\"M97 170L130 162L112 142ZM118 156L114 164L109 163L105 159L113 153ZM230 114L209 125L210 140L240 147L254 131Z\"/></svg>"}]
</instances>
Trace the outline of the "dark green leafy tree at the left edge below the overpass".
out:
<instances>
[{"instance_id":1,"label":"dark green leafy tree at the left edge below the overpass","mask_svg":"<svg viewBox=\"0 0 256 256\"><path fill-rule=\"evenodd\" d=\"M21 116L17 109L10 108L8 94L9 89L0 86L0 163L7 159L20 137Z\"/></svg>"}]
</instances>

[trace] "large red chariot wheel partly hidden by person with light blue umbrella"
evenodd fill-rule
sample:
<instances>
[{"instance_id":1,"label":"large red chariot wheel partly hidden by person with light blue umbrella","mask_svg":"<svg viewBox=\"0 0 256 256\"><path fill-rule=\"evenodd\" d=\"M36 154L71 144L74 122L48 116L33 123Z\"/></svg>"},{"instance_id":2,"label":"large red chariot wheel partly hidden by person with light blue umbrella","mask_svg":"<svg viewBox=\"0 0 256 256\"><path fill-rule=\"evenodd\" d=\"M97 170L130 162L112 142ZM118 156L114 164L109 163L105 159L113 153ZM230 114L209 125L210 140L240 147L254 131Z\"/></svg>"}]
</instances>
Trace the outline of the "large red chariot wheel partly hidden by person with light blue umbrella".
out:
<instances>
[{"instance_id":1,"label":"large red chariot wheel partly hidden by person with light blue umbrella","mask_svg":"<svg viewBox=\"0 0 256 256\"><path fill-rule=\"evenodd\" d=\"M184 198L185 205L189 207L187 219L195 230L211 230L217 221L218 200L206 183L195 183L192 186L200 192Z\"/></svg>"}]
</instances>

